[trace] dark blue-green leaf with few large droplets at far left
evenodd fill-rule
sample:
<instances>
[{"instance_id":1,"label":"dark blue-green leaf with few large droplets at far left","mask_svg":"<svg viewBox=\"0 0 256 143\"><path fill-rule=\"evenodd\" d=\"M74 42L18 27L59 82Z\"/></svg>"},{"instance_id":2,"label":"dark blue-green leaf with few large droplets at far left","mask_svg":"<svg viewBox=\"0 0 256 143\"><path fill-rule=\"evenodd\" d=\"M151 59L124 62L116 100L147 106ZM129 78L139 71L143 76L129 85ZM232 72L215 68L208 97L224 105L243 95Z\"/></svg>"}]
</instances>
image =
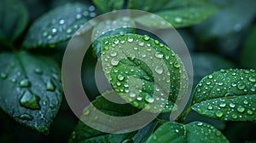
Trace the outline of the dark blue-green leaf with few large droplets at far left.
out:
<instances>
[{"instance_id":1,"label":"dark blue-green leaf with few large droplets at far left","mask_svg":"<svg viewBox=\"0 0 256 143\"><path fill-rule=\"evenodd\" d=\"M26 52L0 54L0 107L18 123L47 134L61 106L59 67Z\"/></svg>"}]
</instances>

